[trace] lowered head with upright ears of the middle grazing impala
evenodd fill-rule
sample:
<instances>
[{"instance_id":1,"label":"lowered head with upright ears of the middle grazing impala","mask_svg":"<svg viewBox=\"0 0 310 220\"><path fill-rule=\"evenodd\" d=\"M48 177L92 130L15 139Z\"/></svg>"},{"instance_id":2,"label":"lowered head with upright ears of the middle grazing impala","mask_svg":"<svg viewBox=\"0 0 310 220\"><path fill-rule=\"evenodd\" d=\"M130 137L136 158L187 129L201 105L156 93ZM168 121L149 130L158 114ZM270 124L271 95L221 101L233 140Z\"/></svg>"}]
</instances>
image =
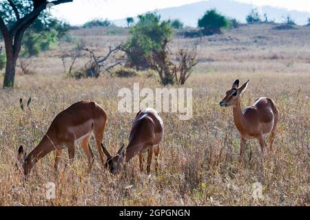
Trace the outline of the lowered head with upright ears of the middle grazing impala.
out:
<instances>
[{"instance_id":1,"label":"lowered head with upright ears of the middle grazing impala","mask_svg":"<svg viewBox=\"0 0 310 220\"><path fill-rule=\"evenodd\" d=\"M107 151L107 148L103 146L101 143L101 147L103 150L103 153L107 156L107 161L105 162L105 168L110 170L112 174L118 174L121 172L121 169L123 167L123 164L125 162L125 145L121 147L120 150L118 150L118 153L116 156L112 156L109 151Z\"/></svg>"}]
</instances>

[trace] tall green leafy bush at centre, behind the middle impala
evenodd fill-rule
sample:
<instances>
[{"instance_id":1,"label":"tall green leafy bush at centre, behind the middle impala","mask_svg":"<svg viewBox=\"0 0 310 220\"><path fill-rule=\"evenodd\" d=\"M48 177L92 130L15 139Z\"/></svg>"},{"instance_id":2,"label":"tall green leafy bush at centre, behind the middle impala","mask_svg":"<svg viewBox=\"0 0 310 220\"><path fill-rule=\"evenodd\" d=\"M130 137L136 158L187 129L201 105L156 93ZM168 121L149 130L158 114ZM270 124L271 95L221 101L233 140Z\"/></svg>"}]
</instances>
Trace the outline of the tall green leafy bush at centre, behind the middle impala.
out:
<instances>
[{"instance_id":1,"label":"tall green leafy bush at centre, behind the middle impala","mask_svg":"<svg viewBox=\"0 0 310 220\"><path fill-rule=\"evenodd\" d=\"M161 50L163 41L171 39L172 27L170 21L161 21L161 16L148 12L138 16L138 23L132 26L132 38L124 48L127 54L127 66L137 70L150 67L147 57L154 51Z\"/></svg>"}]
</instances>

